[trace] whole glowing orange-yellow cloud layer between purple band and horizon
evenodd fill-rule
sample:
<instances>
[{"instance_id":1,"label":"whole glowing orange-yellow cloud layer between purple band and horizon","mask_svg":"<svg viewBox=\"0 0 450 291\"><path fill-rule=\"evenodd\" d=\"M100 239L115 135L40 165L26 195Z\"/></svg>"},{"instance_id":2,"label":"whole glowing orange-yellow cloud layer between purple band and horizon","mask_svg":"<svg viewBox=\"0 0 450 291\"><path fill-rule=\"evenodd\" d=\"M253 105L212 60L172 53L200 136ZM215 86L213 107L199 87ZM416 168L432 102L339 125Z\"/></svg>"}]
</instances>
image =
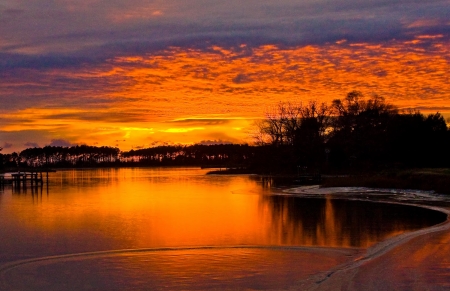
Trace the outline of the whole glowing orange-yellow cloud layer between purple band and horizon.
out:
<instances>
[{"instance_id":1,"label":"whole glowing orange-yellow cloud layer between purple band and horizon","mask_svg":"<svg viewBox=\"0 0 450 291\"><path fill-rule=\"evenodd\" d=\"M439 35L376 45L172 47L76 71L25 72L29 81L0 89L55 96L53 103L33 99L28 108L5 114L1 130L53 130L54 138L123 150L161 141L249 142L253 119L274 104L329 102L355 89L400 108L449 114L449 48ZM58 83L61 78L68 85Z\"/></svg>"}]
</instances>

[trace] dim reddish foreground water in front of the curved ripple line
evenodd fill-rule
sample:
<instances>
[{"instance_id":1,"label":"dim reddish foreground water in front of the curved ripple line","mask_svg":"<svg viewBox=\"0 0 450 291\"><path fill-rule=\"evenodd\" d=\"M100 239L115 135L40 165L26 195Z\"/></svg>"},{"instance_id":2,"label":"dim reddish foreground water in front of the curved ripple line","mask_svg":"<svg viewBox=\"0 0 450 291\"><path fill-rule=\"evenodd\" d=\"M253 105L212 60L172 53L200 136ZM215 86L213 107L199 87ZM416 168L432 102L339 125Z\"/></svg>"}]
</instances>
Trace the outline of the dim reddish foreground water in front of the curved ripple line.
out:
<instances>
[{"instance_id":1,"label":"dim reddish foreground water in front of the curved ripple line","mask_svg":"<svg viewBox=\"0 0 450 291\"><path fill-rule=\"evenodd\" d=\"M124 250L9 264L2 290L286 289L361 249L230 247Z\"/></svg>"}]
</instances>

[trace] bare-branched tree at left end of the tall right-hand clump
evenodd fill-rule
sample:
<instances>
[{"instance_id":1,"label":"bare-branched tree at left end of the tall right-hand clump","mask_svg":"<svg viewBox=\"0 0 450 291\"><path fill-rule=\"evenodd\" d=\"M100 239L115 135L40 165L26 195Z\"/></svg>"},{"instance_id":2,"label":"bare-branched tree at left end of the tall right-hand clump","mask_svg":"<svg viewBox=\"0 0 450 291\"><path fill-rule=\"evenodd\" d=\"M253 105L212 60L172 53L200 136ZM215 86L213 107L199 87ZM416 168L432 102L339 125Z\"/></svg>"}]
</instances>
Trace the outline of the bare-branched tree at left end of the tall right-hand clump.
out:
<instances>
[{"instance_id":1,"label":"bare-branched tree at left end of the tall right-hand clump","mask_svg":"<svg viewBox=\"0 0 450 291\"><path fill-rule=\"evenodd\" d=\"M280 103L257 124L261 146L255 163L271 171L293 171L297 166L317 166L324 156L330 108L326 103Z\"/></svg>"}]
</instances>

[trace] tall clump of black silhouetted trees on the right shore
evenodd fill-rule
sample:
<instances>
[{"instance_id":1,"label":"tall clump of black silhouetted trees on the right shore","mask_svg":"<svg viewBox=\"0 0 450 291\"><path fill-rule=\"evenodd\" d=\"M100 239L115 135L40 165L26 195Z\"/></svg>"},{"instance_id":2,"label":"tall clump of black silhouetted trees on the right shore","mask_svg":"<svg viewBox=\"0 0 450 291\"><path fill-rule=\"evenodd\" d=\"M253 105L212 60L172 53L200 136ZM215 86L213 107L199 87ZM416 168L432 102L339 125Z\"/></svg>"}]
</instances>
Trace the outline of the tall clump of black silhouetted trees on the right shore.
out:
<instances>
[{"instance_id":1,"label":"tall clump of black silhouetted trees on the right shore","mask_svg":"<svg viewBox=\"0 0 450 291\"><path fill-rule=\"evenodd\" d=\"M450 131L440 113L400 111L358 91L331 104L279 104L259 122L255 138L265 170L450 166Z\"/></svg>"}]
</instances>

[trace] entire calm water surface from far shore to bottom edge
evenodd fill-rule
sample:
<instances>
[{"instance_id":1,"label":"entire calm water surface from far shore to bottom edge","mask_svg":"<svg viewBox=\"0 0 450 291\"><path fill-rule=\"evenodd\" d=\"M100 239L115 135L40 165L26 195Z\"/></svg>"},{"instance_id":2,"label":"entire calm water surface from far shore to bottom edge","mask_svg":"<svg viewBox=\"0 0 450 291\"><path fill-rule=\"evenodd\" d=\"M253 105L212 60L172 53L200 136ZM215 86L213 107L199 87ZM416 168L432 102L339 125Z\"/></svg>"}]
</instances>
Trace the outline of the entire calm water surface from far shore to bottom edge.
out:
<instances>
[{"instance_id":1,"label":"entire calm water surface from far shore to bottom edge","mask_svg":"<svg viewBox=\"0 0 450 291\"><path fill-rule=\"evenodd\" d=\"M288 288L445 219L417 207L273 195L256 176L205 173L67 170L43 189L5 187L0 288Z\"/></svg>"}]
</instances>

